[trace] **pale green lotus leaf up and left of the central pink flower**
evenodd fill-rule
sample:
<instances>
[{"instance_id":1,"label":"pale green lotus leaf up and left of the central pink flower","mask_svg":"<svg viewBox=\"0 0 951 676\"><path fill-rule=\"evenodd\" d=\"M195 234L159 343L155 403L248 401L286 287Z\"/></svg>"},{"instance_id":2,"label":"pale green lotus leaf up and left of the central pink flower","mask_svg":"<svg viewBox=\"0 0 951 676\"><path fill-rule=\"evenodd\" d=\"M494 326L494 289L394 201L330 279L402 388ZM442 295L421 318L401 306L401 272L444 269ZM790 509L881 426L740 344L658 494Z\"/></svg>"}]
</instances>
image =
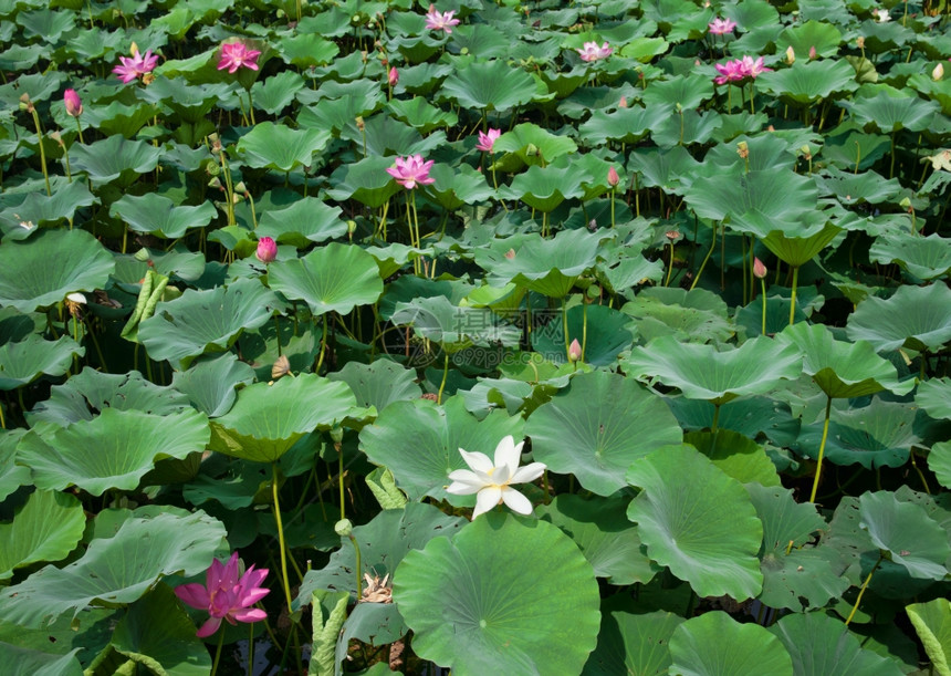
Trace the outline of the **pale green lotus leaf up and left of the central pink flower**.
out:
<instances>
[{"instance_id":1,"label":"pale green lotus leaf up and left of the central pink flower","mask_svg":"<svg viewBox=\"0 0 951 676\"><path fill-rule=\"evenodd\" d=\"M262 122L241 137L238 152L249 167L291 171L299 166L311 166L314 153L323 150L330 139L327 131L296 131Z\"/></svg>"}]
</instances>

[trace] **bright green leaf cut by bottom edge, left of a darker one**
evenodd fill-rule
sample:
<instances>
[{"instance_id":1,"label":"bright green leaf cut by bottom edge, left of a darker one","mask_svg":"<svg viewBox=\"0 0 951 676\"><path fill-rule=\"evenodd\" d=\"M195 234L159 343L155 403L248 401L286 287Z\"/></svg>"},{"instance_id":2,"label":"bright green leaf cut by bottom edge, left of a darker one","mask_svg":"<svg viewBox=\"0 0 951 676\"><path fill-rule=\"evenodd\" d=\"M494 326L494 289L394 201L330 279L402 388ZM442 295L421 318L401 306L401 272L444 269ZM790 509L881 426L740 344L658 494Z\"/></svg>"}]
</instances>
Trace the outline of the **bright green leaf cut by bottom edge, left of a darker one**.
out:
<instances>
[{"instance_id":1,"label":"bright green leaf cut by bottom edge, left of a darker one","mask_svg":"<svg viewBox=\"0 0 951 676\"><path fill-rule=\"evenodd\" d=\"M678 626L670 637L670 673L682 676L793 676L792 658L778 638L723 611Z\"/></svg>"}]
</instances>

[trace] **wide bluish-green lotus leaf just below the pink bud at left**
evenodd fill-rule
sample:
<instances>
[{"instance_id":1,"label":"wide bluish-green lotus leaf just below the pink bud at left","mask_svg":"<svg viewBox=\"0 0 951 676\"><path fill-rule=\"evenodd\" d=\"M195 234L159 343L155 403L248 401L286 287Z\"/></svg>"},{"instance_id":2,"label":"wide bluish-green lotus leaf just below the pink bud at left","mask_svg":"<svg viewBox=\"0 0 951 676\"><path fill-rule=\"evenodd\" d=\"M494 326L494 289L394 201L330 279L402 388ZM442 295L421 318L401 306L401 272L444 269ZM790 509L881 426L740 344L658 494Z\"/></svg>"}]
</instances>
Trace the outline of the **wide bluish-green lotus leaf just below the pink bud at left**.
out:
<instances>
[{"instance_id":1,"label":"wide bluish-green lotus leaf just below the pink bud at left","mask_svg":"<svg viewBox=\"0 0 951 676\"><path fill-rule=\"evenodd\" d=\"M228 350L242 331L258 329L281 306L257 279L207 291L188 289L156 305L155 315L139 324L138 340L151 358L187 367L200 354Z\"/></svg>"}]
</instances>

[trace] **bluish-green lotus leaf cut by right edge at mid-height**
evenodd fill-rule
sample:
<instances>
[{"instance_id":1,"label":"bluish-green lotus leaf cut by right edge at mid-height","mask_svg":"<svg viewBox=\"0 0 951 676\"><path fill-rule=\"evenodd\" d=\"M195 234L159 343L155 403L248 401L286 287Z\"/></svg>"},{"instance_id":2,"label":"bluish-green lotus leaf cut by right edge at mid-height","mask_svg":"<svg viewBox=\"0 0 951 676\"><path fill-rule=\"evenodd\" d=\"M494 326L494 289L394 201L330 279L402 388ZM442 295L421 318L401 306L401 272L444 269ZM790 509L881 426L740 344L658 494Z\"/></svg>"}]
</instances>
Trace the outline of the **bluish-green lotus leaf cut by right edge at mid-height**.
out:
<instances>
[{"instance_id":1,"label":"bluish-green lotus leaf cut by right edge at mid-height","mask_svg":"<svg viewBox=\"0 0 951 676\"><path fill-rule=\"evenodd\" d=\"M848 337L878 352L908 347L938 352L951 340L951 289L899 287L888 300L869 297L848 318Z\"/></svg>"}]
</instances>

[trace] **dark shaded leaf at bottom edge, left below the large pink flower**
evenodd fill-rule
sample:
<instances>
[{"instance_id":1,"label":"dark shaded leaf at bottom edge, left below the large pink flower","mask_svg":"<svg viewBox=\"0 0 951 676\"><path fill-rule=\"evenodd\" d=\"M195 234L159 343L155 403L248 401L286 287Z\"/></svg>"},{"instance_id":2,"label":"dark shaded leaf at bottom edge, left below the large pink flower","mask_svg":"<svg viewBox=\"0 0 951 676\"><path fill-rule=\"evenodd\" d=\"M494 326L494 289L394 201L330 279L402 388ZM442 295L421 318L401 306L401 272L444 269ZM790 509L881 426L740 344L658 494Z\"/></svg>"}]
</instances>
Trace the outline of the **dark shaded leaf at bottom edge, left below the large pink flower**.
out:
<instances>
[{"instance_id":1,"label":"dark shaded leaf at bottom edge, left below the large pink flower","mask_svg":"<svg viewBox=\"0 0 951 676\"><path fill-rule=\"evenodd\" d=\"M171 587L159 582L119 620L112 646L122 655L167 674L205 676L211 655Z\"/></svg>"}]
</instances>

